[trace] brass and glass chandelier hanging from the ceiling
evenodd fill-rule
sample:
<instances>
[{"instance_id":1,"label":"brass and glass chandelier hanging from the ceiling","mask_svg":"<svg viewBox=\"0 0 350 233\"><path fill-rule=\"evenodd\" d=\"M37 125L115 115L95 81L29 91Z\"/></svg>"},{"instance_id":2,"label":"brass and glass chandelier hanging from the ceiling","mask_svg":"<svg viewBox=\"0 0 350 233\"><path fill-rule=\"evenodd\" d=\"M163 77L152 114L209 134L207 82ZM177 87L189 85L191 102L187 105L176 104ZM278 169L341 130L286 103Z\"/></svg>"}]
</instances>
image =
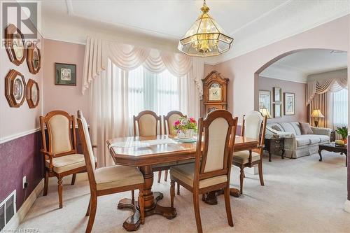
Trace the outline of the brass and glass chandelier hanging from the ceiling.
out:
<instances>
[{"instance_id":1,"label":"brass and glass chandelier hanging from the ceiling","mask_svg":"<svg viewBox=\"0 0 350 233\"><path fill-rule=\"evenodd\" d=\"M208 14L209 7L204 0L202 14L179 41L178 49L189 56L211 57L221 55L231 48L233 38Z\"/></svg>"}]
</instances>

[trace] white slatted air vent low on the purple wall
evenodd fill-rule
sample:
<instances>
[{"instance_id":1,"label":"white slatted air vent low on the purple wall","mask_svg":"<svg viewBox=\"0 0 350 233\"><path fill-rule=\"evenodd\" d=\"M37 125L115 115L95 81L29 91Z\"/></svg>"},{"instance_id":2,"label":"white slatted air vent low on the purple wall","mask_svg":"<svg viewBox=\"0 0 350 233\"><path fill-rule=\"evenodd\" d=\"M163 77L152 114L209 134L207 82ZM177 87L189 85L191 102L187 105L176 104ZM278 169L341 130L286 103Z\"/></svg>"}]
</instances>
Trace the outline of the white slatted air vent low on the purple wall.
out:
<instances>
[{"instance_id":1,"label":"white slatted air vent low on the purple wall","mask_svg":"<svg viewBox=\"0 0 350 233\"><path fill-rule=\"evenodd\" d=\"M14 190L0 204L0 232L15 215L16 212L16 190Z\"/></svg>"}]
</instances>

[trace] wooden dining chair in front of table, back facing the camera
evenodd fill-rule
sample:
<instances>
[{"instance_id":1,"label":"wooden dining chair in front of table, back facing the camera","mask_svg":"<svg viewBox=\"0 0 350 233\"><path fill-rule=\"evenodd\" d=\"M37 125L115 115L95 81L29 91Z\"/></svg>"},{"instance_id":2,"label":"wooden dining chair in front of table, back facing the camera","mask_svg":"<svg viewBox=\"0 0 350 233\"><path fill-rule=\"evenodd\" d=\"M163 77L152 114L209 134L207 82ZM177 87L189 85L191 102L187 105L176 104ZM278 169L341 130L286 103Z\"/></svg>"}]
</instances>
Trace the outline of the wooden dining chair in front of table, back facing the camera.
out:
<instances>
[{"instance_id":1,"label":"wooden dining chair in front of table, back facing the camera","mask_svg":"<svg viewBox=\"0 0 350 233\"><path fill-rule=\"evenodd\" d=\"M236 129L237 118L232 118L231 113L226 110L215 110L209 113L204 120L200 118L195 163L170 168L171 206L174 207L175 182L193 192L198 232L202 232L199 195L221 189L224 190L228 224L233 227L230 206L230 171ZM202 135L204 135L203 142Z\"/></svg>"}]
</instances>

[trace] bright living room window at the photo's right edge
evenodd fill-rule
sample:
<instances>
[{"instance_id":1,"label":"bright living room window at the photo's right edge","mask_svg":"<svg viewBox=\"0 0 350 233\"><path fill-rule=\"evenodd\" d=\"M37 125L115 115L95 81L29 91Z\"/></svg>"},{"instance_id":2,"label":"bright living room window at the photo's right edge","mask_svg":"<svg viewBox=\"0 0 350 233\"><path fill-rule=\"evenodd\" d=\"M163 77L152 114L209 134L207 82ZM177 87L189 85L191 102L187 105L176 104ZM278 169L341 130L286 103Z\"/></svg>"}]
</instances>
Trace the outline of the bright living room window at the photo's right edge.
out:
<instances>
[{"instance_id":1,"label":"bright living room window at the photo's right edge","mask_svg":"<svg viewBox=\"0 0 350 233\"><path fill-rule=\"evenodd\" d=\"M348 125L348 90L333 92L333 125L342 127Z\"/></svg>"}]
</instances>

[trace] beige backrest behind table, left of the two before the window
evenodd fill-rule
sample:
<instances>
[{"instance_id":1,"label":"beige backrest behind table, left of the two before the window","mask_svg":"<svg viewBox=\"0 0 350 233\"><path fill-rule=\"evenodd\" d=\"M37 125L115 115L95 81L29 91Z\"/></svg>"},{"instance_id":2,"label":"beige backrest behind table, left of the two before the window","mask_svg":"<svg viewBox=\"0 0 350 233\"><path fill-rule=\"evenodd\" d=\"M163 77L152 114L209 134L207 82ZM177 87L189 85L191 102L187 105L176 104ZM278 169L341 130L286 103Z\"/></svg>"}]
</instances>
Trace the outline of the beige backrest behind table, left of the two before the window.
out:
<instances>
[{"instance_id":1,"label":"beige backrest behind table, left of the two before the window","mask_svg":"<svg viewBox=\"0 0 350 233\"><path fill-rule=\"evenodd\" d=\"M136 130L136 126L138 131ZM134 136L157 136L162 134L162 118L153 111L142 111L134 115Z\"/></svg>"}]
</instances>

